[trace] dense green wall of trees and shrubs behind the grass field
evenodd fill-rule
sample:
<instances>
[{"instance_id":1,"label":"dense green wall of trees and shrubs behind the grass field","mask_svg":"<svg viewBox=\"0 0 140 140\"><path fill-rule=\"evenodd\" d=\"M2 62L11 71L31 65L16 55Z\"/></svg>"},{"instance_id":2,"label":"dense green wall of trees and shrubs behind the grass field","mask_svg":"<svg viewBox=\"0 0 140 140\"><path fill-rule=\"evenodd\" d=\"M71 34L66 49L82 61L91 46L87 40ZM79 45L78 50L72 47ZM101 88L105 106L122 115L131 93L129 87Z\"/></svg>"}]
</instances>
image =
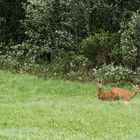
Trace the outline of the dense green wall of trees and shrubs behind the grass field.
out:
<instances>
[{"instance_id":1,"label":"dense green wall of trees and shrubs behind the grass field","mask_svg":"<svg viewBox=\"0 0 140 140\"><path fill-rule=\"evenodd\" d=\"M1 0L0 66L80 80L94 79L92 69L112 62L138 70L139 4L139 0Z\"/></svg>"}]
</instances>

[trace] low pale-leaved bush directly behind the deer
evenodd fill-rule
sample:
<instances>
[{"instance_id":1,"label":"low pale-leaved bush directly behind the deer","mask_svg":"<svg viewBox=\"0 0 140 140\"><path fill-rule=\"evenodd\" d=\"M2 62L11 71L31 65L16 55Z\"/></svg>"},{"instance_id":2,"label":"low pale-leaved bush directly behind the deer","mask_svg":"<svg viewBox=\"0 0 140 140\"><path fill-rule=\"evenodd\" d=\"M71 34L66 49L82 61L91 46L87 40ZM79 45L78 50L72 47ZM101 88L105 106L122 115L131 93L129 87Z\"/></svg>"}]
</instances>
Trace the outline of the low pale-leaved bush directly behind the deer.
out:
<instances>
[{"instance_id":1,"label":"low pale-leaved bush directly behind the deer","mask_svg":"<svg viewBox=\"0 0 140 140\"><path fill-rule=\"evenodd\" d=\"M123 66L114 66L113 64L105 65L96 71L97 80L106 83L134 82L137 77L136 72Z\"/></svg>"}]
</instances>

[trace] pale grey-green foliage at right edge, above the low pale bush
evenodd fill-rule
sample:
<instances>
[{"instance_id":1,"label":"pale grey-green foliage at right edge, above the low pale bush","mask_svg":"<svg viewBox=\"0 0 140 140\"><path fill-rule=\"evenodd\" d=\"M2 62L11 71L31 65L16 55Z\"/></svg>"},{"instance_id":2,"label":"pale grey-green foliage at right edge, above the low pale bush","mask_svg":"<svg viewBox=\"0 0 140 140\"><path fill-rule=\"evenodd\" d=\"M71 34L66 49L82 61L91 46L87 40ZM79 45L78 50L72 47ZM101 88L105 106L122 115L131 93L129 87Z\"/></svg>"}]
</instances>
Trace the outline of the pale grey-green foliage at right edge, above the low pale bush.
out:
<instances>
[{"instance_id":1,"label":"pale grey-green foliage at right edge, above the low pale bush","mask_svg":"<svg viewBox=\"0 0 140 140\"><path fill-rule=\"evenodd\" d=\"M129 68L140 66L140 13L134 13L121 36L123 63Z\"/></svg>"}]
</instances>

